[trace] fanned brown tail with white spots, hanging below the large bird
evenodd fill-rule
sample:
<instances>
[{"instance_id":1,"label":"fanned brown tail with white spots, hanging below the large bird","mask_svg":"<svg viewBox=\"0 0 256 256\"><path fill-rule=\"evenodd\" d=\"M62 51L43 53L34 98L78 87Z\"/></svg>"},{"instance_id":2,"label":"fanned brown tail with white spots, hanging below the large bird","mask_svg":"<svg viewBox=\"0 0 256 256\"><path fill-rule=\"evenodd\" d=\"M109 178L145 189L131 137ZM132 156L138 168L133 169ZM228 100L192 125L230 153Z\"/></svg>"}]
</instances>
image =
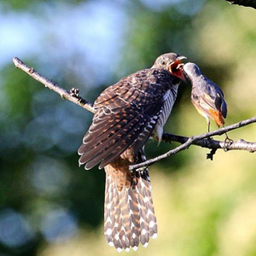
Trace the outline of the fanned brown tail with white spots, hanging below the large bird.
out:
<instances>
[{"instance_id":1,"label":"fanned brown tail with white spots, hanging below the large bird","mask_svg":"<svg viewBox=\"0 0 256 256\"><path fill-rule=\"evenodd\" d=\"M130 172L131 161L124 160L123 155L105 166L104 235L119 252L130 247L136 251L140 242L147 247L149 237L157 236L148 170ZM136 163L143 160L141 150Z\"/></svg>"}]
</instances>

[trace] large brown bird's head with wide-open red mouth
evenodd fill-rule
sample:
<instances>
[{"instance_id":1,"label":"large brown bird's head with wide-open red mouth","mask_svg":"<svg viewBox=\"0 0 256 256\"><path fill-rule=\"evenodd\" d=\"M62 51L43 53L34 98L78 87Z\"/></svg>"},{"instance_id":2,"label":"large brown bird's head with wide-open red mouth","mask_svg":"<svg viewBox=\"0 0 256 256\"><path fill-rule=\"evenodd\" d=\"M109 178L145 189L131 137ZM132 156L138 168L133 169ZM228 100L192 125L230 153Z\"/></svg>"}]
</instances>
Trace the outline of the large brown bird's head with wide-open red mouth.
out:
<instances>
[{"instance_id":1,"label":"large brown bird's head with wide-open red mouth","mask_svg":"<svg viewBox=\"0 0 256 256\"><path fill-rule=\"evenodd\" d=\"M176 53L160 55L154 61L152 68L165 69L172 73L172 75L176 76L178 79L185 81L183 76L183 59L186 59L186 57L177 55Z\"/></svg>"}]
</instances>

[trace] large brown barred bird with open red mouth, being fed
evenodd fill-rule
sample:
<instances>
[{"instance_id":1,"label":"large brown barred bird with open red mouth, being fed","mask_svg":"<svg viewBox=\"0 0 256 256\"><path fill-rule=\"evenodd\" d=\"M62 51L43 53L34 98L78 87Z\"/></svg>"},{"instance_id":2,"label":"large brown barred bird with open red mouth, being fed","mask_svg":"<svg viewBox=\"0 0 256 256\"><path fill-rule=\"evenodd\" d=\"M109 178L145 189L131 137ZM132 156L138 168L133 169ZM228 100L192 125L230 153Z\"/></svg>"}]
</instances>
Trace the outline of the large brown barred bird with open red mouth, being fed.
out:
<instances>
[{"instance_id":1,"label":"large brown barred bird with open red mouth, being fed","mask_svg":"<svg viewBox=\"0 0 256 256\"><path fill-rule=\"evenodd\" d=\"M97 164L106 172L104 235L118 251L137 250L156 238L148 169L130 172L129 166L146 160L148 137L159 140L171 113L180 79L183 56L160 55L154 66L133 73L102 92L96 113L79 148L79 165Z\"/></svg>"}]
</instances>

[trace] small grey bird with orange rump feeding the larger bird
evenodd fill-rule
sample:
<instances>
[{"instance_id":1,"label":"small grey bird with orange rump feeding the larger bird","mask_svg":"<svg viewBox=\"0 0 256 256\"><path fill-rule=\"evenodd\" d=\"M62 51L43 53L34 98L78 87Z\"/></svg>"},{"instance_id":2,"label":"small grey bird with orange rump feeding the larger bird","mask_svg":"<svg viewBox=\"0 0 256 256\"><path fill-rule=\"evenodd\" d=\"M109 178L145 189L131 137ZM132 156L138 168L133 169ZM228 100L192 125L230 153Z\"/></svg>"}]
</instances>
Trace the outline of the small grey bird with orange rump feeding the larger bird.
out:
<instances>
[{"instance_id":1,"label":"small grey bird with orange rump feeding the larger bird","mask_svg":"<svg viewBox=\"0 0 256 256\"><path fill-rule=\"evenodd\" d=\"M207 79L195 63L188 62L184 64L183 73L192 84L191 102L198 113L207 119L208 132L210 131L209 118L213 119L218 127L224 126L227 104L224 101L223 91L217 84Z\"/></svg>"}]
</instances>

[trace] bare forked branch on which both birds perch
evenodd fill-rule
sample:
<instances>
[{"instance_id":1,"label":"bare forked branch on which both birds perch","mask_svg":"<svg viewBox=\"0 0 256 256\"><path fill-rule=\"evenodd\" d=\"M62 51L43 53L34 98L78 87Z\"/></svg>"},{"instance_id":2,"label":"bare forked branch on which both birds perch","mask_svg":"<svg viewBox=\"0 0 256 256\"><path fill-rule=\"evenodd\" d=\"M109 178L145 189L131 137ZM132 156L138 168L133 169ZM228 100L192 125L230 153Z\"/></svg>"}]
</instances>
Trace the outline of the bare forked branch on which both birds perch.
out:
<instances>
[{"instance_id":1,"label":"bare forked branch on which both birds perch","mask_svg":"<svg viewBox=\"0 0 256 256\"><path fill-rule=\"evenodd\" d=\"M18 58L14 58L15 67L20 68L22 71L26 72L28 75L30 75L33 79L38 80L40 83L44 84L45 87L49 88L49 90L54 90L57 94L61 96L61 98L66 99L70 102L73 102L77 105L79 105L82 108L87 109L91 113L95 113L95 109L93 108L93 105L84 100L82 97L79 96L79 90L78 89L72 89L70 92L67 92L67 90L62 89L54 82L50 81L49 79L44 78L41 74L39 74L34 68L26 66L26 64L23 61L20 61ZM232 131L238 128L241 128L242 126L250 125L252 123L256 122L256 117L253 117L251 119L242 120L241 122L238 122L234 125L229 125L223 128L220 128L216 131L207 132L195 137L182 137L177 135L172 135L170 133L165 133L163 136L163 141L165 142L177 142L182 143L182 145L178 146L177 148L174 148L170 151L168 151L166 154L161 154L160 156L157 156L151 160L147 160L143 163L140 163L138 165L130 166L131 171L140 171L141 168L144 168L145 166L151 166L156 161L165 159L172 154L177 154L178 152L187 149L190 147L190 145L199 146L202 148L210 148L211 153L207 154L207 158L212 159L212 155L215 154L216 150L219 148L223 148L225 151L228 150L246 150L248 152L254 152L256 151L256 143L249 143L242 139L236 141L236 142L220 142L213 140L212 136L217 135L223 135L227 131Z\"/></svg>"}]
</instances>

